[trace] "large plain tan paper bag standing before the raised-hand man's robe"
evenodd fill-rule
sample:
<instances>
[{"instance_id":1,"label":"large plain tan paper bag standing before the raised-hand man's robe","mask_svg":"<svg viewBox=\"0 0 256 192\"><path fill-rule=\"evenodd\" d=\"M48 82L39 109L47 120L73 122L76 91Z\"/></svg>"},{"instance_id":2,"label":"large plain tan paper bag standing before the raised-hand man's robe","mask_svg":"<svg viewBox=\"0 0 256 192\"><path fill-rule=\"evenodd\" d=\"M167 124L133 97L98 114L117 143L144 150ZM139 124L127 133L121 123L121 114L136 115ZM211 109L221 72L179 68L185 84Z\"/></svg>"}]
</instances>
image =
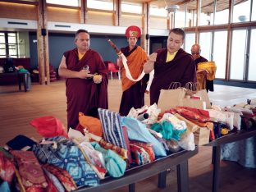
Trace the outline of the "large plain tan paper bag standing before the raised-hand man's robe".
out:
<instances>
[{"instance_id":1,"label":"large plain tan paper bag standing before the raised-hand man's robe","mask_svg":"<svg viewBox=\"0 0 256 192\"><path fill-rule=\"evenodd\" d=\"M161 89L158 108L161 108L162 112L164 112L171 107L181 106L182 99L185 98L185 90L185 88Z\"/></svg>"}]
</instances>

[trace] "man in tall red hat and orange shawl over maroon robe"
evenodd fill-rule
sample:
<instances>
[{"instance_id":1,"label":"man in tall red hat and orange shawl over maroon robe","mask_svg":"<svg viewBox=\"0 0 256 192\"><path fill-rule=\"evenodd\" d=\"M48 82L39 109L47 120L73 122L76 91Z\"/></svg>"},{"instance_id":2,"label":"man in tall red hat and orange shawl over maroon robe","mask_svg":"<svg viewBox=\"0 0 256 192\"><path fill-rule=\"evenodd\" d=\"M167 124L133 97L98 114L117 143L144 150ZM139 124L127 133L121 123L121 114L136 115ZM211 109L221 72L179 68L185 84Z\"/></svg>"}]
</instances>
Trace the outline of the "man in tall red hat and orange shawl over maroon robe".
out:
<instances>
[{"instance_id":1,"label":"man in tall red hat and orange shawl over maroon robe","mask_svg":"<svg viewBox=\"0 0 256 192\"><path fill-rule=\"evenodd\" d=\"M139 27L135 25L128 27L126 38L129 45L126 48L121 48L121 53L126 56L130 75L135 80L142 73L144 63L148 61L147 53L136 44L140 35ZM118 65L121 67L121 88L123 92L119 112L121 116L126 116L131 107L140 108L144 106L144 92L148 75L139 81L133 81L126 76L126 69L123 67L121 59L119 59Z\"/></svg>"}]
</instances>

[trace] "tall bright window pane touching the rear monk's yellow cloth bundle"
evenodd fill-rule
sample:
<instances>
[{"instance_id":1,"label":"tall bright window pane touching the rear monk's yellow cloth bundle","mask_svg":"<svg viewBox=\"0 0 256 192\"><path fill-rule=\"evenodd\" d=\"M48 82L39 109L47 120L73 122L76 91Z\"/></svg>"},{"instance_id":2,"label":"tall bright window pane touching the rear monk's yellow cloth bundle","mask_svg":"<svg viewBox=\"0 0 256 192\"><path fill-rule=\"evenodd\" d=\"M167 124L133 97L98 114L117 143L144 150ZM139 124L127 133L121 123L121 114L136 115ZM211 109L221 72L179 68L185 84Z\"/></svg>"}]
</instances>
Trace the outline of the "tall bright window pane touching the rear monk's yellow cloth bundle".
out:
<instances>
[{"instance_id":1,"label":"tall bright window pane touching the rear monk's yellow cloth bundle","mask_svg":"<svg viewBox=\"0 0 256 192\"><path fill-rule=\"evenodd\" d=\"M225 79L227 31L215 31L213 39L213 61L217 66L216 78Z\"/></svg>"}]
</instances>

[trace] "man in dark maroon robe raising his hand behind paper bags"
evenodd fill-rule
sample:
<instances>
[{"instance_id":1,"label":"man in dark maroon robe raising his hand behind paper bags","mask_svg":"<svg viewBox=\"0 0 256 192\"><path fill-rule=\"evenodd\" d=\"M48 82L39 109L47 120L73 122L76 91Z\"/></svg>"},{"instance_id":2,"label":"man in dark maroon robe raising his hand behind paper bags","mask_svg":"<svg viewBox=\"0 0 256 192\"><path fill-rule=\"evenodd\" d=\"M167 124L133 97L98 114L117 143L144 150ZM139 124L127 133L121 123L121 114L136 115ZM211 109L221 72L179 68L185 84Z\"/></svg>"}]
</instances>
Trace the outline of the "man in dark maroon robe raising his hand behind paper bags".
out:
<instances>
[{"instance_id":1,"label":"man in dark maroon robe raising his hand behind paper bags","mask_svg":"<svg viewBox=\"0 0 256 192\"><path fill-rule=\"evenodd\" d=\"M144 64L144 72L154 69L154 77L150 86L150 104L158 103L161 89L175 89L170 85L179 82L182 87L195 80L195 65L193 57L186 53L181 45L185 33L179 28L172 29L167 39L167 48L162 48L149 56L149 62Z\"/></svg>"}]
</instances>

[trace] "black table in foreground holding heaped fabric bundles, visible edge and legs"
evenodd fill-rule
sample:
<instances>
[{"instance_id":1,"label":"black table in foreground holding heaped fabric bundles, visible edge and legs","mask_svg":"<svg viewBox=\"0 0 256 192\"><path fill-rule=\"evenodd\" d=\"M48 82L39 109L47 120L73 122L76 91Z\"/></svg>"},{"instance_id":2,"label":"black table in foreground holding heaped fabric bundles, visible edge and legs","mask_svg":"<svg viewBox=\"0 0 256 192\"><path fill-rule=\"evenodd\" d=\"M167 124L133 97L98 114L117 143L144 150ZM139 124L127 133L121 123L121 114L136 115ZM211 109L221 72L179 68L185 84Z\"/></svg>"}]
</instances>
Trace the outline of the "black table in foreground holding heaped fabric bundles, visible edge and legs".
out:
<instances>
[{"instance_id":1,"label":"black table in foreground holding heaped fabric bundles, visible edge and legs","mask_svg":"<svg viewBox=\"0 0 256 192\"><path fill-rule=\"evenodd\" d=\"M168 155L164 158L159 158L154 162L131 168L126 171L124 176L120 178L107 177L100 181L100 185L96 187L81 188L77 191L107 191L120 188L121 186L129 185L129 191L135 191L135 182L143 181L150 176L158 175L158 187L165 187L167 169L176 166L177 168L177 185L178 191L189 191L189 172L188 159L198 153L198 148L194 151L181 151Z\"/></svg>"}]
</instances>

